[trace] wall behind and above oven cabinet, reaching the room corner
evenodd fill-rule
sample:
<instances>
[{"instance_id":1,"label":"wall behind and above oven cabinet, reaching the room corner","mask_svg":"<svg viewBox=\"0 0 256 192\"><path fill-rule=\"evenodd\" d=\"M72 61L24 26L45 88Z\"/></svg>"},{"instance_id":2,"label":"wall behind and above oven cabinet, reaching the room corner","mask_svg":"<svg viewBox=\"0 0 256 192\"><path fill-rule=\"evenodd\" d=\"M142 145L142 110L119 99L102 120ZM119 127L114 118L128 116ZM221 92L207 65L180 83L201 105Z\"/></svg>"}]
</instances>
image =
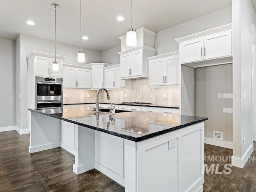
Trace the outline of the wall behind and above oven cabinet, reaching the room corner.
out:
<instances>
[{"instance_id":1,"label":"wall behind and above oven cabinet, reaching the room corner","mask_svg":"<svg viewBox=\"0 0 256 192\"><path fill-rule=\"evenodd\" d=\"M20 129L28 129L28 64L26 55L30 51L38 51L54 54L54 41L36 38L24 34L19 35L20 38L20 83L22 84L21 92L21 124ZM91 62L101 62L101 52L83 48L86 56L86 63L77 62L77 52L80 48L68 44L56 44L56 54L66 56L64 63L81 65ZM19 74L18 74L19 77ZM17 110L19 110L17 108ZM16 117L19 118L19 117Z\"/></svg>"}]
</instances>

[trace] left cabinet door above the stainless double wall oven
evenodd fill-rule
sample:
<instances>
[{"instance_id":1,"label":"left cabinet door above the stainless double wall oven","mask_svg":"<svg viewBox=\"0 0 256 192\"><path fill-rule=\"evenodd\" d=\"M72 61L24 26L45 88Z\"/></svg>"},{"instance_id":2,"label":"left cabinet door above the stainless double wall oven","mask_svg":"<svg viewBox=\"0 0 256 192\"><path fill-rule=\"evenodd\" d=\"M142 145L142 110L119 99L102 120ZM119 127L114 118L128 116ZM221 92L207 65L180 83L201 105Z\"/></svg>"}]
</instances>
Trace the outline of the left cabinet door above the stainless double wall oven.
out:
<instances>
[{"instance_id":1,"label":"left cabinet door above the stainless double wall oven","mask_svg":"<svg viewBox=\"0 0 256 192\"><path fill-rule=\"evenodd\" d=\"M50 59L47 57L35 57L35 75L50 76Z\"/></svg>"}]
</instances>

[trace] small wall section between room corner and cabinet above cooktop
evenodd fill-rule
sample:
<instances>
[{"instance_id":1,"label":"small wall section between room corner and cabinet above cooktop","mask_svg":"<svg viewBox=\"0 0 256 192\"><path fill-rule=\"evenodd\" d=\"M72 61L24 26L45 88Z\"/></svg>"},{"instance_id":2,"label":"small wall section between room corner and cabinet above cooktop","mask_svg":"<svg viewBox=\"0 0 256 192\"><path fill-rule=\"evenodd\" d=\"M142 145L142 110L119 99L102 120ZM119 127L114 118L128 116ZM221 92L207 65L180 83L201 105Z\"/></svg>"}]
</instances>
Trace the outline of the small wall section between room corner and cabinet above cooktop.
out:
<instances>
[{"instance_id":1,"label":"small wall section between room corner and cabinet above cooktop","mask_svg":"<svg viewBox=\"0 0 256 192\"><path fill-rule=\"evenodd\" d=\"M121 46L116 46L114 48L108 49L101 53L102 62L110 63L113 65L120 64L120 55L118 52L121 51Z\"/></svg>"}]
</instances>

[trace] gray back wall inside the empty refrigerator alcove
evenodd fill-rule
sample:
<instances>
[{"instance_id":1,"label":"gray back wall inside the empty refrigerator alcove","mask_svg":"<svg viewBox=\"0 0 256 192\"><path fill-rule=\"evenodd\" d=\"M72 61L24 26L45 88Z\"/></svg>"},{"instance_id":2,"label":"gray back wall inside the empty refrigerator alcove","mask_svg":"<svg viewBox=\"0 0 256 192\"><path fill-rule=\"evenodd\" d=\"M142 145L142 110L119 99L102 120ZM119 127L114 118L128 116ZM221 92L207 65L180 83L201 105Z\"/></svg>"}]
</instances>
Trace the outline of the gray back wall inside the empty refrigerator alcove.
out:
<instances>
[{"instance_id":1,"label":"gray back wall inside the empty refrigerator alcove","mask_svg":"<svg viewBox=\"0 0 256 192\"><path fill-rule=\"evenodd\" d=\"M218 99L218 93L232 93L232 64L195 69L195 115L206 116L205 137L212 138L213 131L223 132L223 140L232 142L232 99Z\"/></svg>"}]
</instances>

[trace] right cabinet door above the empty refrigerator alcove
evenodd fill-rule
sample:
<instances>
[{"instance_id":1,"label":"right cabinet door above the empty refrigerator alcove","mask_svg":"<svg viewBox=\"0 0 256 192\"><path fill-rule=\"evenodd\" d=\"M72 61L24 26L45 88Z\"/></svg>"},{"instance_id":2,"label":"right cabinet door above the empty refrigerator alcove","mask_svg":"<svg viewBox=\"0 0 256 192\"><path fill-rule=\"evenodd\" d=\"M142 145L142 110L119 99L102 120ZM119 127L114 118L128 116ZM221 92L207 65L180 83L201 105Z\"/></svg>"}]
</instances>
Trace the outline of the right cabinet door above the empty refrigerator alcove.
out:
<instances>
[{"instance_id":1,"label":"right cabinet door above the empty refrigerator alcove","mask_svg":"<svg viewBox=\"0 0 256 192\"><path fill-rule=\"evenodd\" d=\"M232 55L232 34L225 31L204 37L204 59Z\"/></svg>"}]
</instances>

